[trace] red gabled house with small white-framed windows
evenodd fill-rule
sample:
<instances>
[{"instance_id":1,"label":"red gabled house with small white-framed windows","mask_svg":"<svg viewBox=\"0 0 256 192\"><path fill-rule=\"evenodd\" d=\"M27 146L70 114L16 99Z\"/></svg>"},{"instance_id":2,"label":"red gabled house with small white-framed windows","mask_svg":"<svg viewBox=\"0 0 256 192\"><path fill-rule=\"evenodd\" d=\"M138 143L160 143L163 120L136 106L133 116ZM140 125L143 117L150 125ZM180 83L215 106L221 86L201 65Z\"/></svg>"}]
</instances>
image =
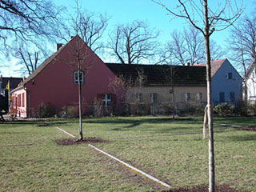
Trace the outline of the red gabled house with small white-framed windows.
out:
<instances>
[{"instance_id":1,"label":"red gabled house with small white-framed windows","mask_svg":"<svg viewBox=\"0 0 256 192\"><path fill-rule=\"evenodd\" d=\"M42 62L21 86L11 94L16 115L31 117L38 114L40 106L50 105L57 114L65 106L78 105L78 62L82 69L82 105L84 113L90 114L90 107L97 99L102 106L121 103L125 90L113 89L110 84L118 79L100 58L78 35Z\"/></svg>"}]
</instances>

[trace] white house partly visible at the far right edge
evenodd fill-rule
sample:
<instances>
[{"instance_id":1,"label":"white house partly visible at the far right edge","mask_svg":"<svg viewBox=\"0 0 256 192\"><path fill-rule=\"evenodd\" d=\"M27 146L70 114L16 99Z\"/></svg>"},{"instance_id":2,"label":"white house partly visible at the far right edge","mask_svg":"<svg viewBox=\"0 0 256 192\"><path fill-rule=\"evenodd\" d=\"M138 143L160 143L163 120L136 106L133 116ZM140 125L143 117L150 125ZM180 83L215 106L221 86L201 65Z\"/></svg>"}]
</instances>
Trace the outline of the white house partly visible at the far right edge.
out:
<instances>
[{"instance_id":1,"label":"white house partly visible at the far right edge","mask_svg":"<svg viewBox=\"0 0 256 192\"><path fill-rule=\"evenodd\" d=\"M246 74L247 74L247 95L249 102L256 102L256 71L254 62L250 63Z\"/></svg>"}]
</instances>

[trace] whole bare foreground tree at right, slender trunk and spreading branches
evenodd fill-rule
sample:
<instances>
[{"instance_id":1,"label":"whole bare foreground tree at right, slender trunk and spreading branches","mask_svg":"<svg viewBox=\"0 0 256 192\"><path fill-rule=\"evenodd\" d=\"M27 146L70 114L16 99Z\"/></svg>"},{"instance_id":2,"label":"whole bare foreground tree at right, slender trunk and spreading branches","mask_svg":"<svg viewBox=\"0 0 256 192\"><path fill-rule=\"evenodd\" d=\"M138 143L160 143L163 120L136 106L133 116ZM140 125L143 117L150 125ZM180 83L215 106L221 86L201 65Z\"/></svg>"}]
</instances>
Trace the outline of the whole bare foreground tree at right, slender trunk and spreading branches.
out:
<instances>
[{"instance_id":1,"label":"whole bare foreground tree at right, slender trunk and spreading branches","mask_svg":"<svg viewBox=\"0 0 256 192\"><path fill-rule=\"evenodd\" d=\"M234 1L231 7L230 1L219 2L217 10L211 10L207 0L177 0L174 9L168 8L161 0L152 0L169 14L176 18L184 18L197 30L199 30L205 40L206 49L206 80L207 80L207 114L209 128L209 191L214 192L215 187L215 168L214 168L214 125L213 125L213 106L211 98L211 72L210 72L210 35L214 31L224 30L231 26L242 14L242 6L239 8Z\"/></svg>"}]
</instances>

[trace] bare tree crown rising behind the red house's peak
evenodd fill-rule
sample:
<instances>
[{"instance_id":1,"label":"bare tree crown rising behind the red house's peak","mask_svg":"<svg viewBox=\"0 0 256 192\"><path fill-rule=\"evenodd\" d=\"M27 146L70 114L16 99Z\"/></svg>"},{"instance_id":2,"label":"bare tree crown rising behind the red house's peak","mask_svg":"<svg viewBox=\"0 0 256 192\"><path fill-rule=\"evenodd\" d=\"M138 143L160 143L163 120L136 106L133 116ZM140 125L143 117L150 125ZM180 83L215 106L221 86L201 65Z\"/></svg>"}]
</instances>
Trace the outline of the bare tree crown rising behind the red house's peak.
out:
<instances>
[{"instance_id":1,"label":"bare tree crown rising behind the red house's peak","mask_svg":"<svg viewBox=\"0 0 256 192\"><path fill-rule=\"evenodd\" d=\"M62 27L58 30L58 36L67 42L69 41L67 37L78 34L91 50L97 52L104 48L103 42L100 40L110 18L106 14L96 14L82 10L78 0L75 0L75 3L76 14L71 15L70 22L62 24Z\"/></svg>"}]
</instances>

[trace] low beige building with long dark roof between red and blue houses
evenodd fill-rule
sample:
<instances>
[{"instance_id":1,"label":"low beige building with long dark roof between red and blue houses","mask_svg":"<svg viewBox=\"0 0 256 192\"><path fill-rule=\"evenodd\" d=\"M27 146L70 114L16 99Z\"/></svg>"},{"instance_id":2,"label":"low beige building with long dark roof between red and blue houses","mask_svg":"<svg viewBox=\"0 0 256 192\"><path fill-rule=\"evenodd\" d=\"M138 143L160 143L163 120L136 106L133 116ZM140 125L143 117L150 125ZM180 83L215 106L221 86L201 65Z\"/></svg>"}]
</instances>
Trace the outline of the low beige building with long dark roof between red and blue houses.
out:
<instances>
[{"instance_id":1,"label":"low beige building with long dark roof between red and blue houses","mask_svg":"<svg viewBox=\"0 0 256 192\"><path fill-rule=\"evenodd\" d=\"M170 114L206 105L206 67L106 63L126 82L130 114Z\"/></svg>"}]
</instances>

